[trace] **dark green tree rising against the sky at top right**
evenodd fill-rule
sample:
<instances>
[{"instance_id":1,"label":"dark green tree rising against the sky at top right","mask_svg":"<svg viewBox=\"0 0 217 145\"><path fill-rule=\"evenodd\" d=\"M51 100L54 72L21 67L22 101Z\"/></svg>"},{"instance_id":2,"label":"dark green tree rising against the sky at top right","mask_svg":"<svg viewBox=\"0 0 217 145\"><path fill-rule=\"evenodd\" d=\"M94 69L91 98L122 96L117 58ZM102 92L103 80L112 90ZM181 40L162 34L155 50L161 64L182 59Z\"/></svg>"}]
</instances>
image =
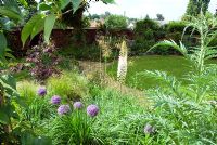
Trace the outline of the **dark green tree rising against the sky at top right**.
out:
<instances>
[{"instance_id":1,"label":"dark green tree rising against the sky at top right","mask_svg":"<svg viewBox=\"0 0 217 145\"><path fill-rule=\"evenodd\" d=\"M201 11L205 14L209 2L210 0L189 0L186 15L197 16Z\"/></svg>"}]
</instances>

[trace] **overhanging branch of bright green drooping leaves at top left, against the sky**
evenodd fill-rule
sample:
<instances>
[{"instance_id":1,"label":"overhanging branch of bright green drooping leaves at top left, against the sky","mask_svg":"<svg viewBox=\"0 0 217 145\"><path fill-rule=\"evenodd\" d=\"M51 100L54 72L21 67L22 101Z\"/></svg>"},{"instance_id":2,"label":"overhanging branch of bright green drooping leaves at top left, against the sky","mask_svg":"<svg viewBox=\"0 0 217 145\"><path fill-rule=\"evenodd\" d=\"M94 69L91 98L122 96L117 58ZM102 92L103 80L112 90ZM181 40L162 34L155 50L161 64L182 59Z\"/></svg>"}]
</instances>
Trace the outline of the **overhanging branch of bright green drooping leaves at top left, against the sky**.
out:
<instances>
[{"instance_id":1,"label":"overhanging branch of bright green drooping leaves at top left, against the sky","mask_svg":"<svg viewBox=\"0 0 217 145\"><path fill-rule=\"evenodd\" d=\"M102 0L103 2L112 3L113 0ZM33 38L43 30L43 40L48 43L51 31L55 22L62 18L64 14L73 11L75 13L80 6L86 5L86 0L44 0L39 2L39 12L36 13L22 29L22 42L25 44L26 40ZM62 12L68 4L73 6L66 12Z\"/></svg>"}]
</instances>

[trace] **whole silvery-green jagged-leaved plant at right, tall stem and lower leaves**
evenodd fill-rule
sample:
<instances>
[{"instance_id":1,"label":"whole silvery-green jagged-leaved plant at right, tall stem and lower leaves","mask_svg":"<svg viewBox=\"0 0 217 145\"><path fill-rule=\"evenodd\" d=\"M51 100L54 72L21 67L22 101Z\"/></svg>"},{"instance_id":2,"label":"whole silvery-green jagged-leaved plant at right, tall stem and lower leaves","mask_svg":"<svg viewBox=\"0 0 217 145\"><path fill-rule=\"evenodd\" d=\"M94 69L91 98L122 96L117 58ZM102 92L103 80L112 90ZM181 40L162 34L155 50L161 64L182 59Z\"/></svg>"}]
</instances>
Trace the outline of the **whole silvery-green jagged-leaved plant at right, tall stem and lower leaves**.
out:
<instances>
[{"instance_id":1,"label":"whole silvery-green jagged-leaved plant at right, tall stem and lower leaves","mask_svg":"<svg viewBox=\"0 0 217 145\"><path fill-rule=\"evenodd\" d=\"M154 139L164 144L216 144L216 65L205 65L205 60L213 58L216 51L208 47L215 34L209 28L216 27L215 19L192 17L188 24L200 34L200 47L193 47L189 52L171 41L163 41L154 47L170 45L178 50L191 62L193 71L184 79L189 84L183 85L175 77L162 71L144 71L142 75L164 81L158 90L152 90L148 96L154 103L146 121L156 129Z\"/></svg>"}]
</instances>

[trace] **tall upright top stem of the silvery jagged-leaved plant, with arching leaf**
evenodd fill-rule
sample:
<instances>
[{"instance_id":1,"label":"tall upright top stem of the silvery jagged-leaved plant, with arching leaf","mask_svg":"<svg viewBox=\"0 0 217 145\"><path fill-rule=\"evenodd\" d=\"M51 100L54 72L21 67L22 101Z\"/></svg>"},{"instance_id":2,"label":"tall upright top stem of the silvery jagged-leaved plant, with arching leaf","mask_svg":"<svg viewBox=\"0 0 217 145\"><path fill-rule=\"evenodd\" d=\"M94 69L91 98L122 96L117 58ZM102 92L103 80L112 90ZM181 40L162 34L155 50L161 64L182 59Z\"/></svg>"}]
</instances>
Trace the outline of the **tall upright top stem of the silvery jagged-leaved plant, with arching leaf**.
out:
<instances>
[{"instance_id":1,"label":"tall upright top stem of the silvery jagged-leaved plant, with arching leaf","mask_svg":"<svg viewBox=\"0 0 217 145\"><path fill-rule=\"evenodd\" d=\"M191 22L187 23L186 29L193 27L193 31L200 34L199 40L200 45L192 47L192 50L188 50L181 42L180 45L171 41L163 41L154 45L169 45L178 50L182 55L184 55L194 66L197 74L202 74L205 69L204 61L216 57L217 51L216 47L210 47L210 42L215 39L216 32L212 31L217 27L217 21L215 17L207 18L205 15L201 14L200 17L191 17Z\"/></svg>"}]
</instances>

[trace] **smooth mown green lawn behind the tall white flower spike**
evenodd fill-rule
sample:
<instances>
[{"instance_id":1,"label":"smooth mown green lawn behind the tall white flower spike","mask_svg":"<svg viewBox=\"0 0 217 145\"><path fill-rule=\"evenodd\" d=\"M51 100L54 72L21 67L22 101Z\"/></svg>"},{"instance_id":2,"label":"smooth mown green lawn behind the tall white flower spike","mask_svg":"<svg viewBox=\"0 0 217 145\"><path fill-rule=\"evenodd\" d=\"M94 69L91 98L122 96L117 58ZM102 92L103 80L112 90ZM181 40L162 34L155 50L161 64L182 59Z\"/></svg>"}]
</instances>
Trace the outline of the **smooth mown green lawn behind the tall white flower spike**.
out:
<instances>
[{"instance_id":1,"label":"smooth mown green lawn behind the tall white flower spike","mask_svg":"<svg viewBox=\"0 0 217 145\"><path fill-rule=\"evenodd\" d=\"M216 62L216 60L212 60L208 63ZM138 72L142 72L144 70L166 71L169 75L175 76L183 83L188 83L187 80L183 80L182 78L191 70L191 66L190 63L182 56L145 55L131 57L128 61L126 84L141 90L161 85L161 81L158 80L137 75ZM111 66L108 66L107 72L116 79L117 62L114 62Z\"/></svg>"}]
</instances>

